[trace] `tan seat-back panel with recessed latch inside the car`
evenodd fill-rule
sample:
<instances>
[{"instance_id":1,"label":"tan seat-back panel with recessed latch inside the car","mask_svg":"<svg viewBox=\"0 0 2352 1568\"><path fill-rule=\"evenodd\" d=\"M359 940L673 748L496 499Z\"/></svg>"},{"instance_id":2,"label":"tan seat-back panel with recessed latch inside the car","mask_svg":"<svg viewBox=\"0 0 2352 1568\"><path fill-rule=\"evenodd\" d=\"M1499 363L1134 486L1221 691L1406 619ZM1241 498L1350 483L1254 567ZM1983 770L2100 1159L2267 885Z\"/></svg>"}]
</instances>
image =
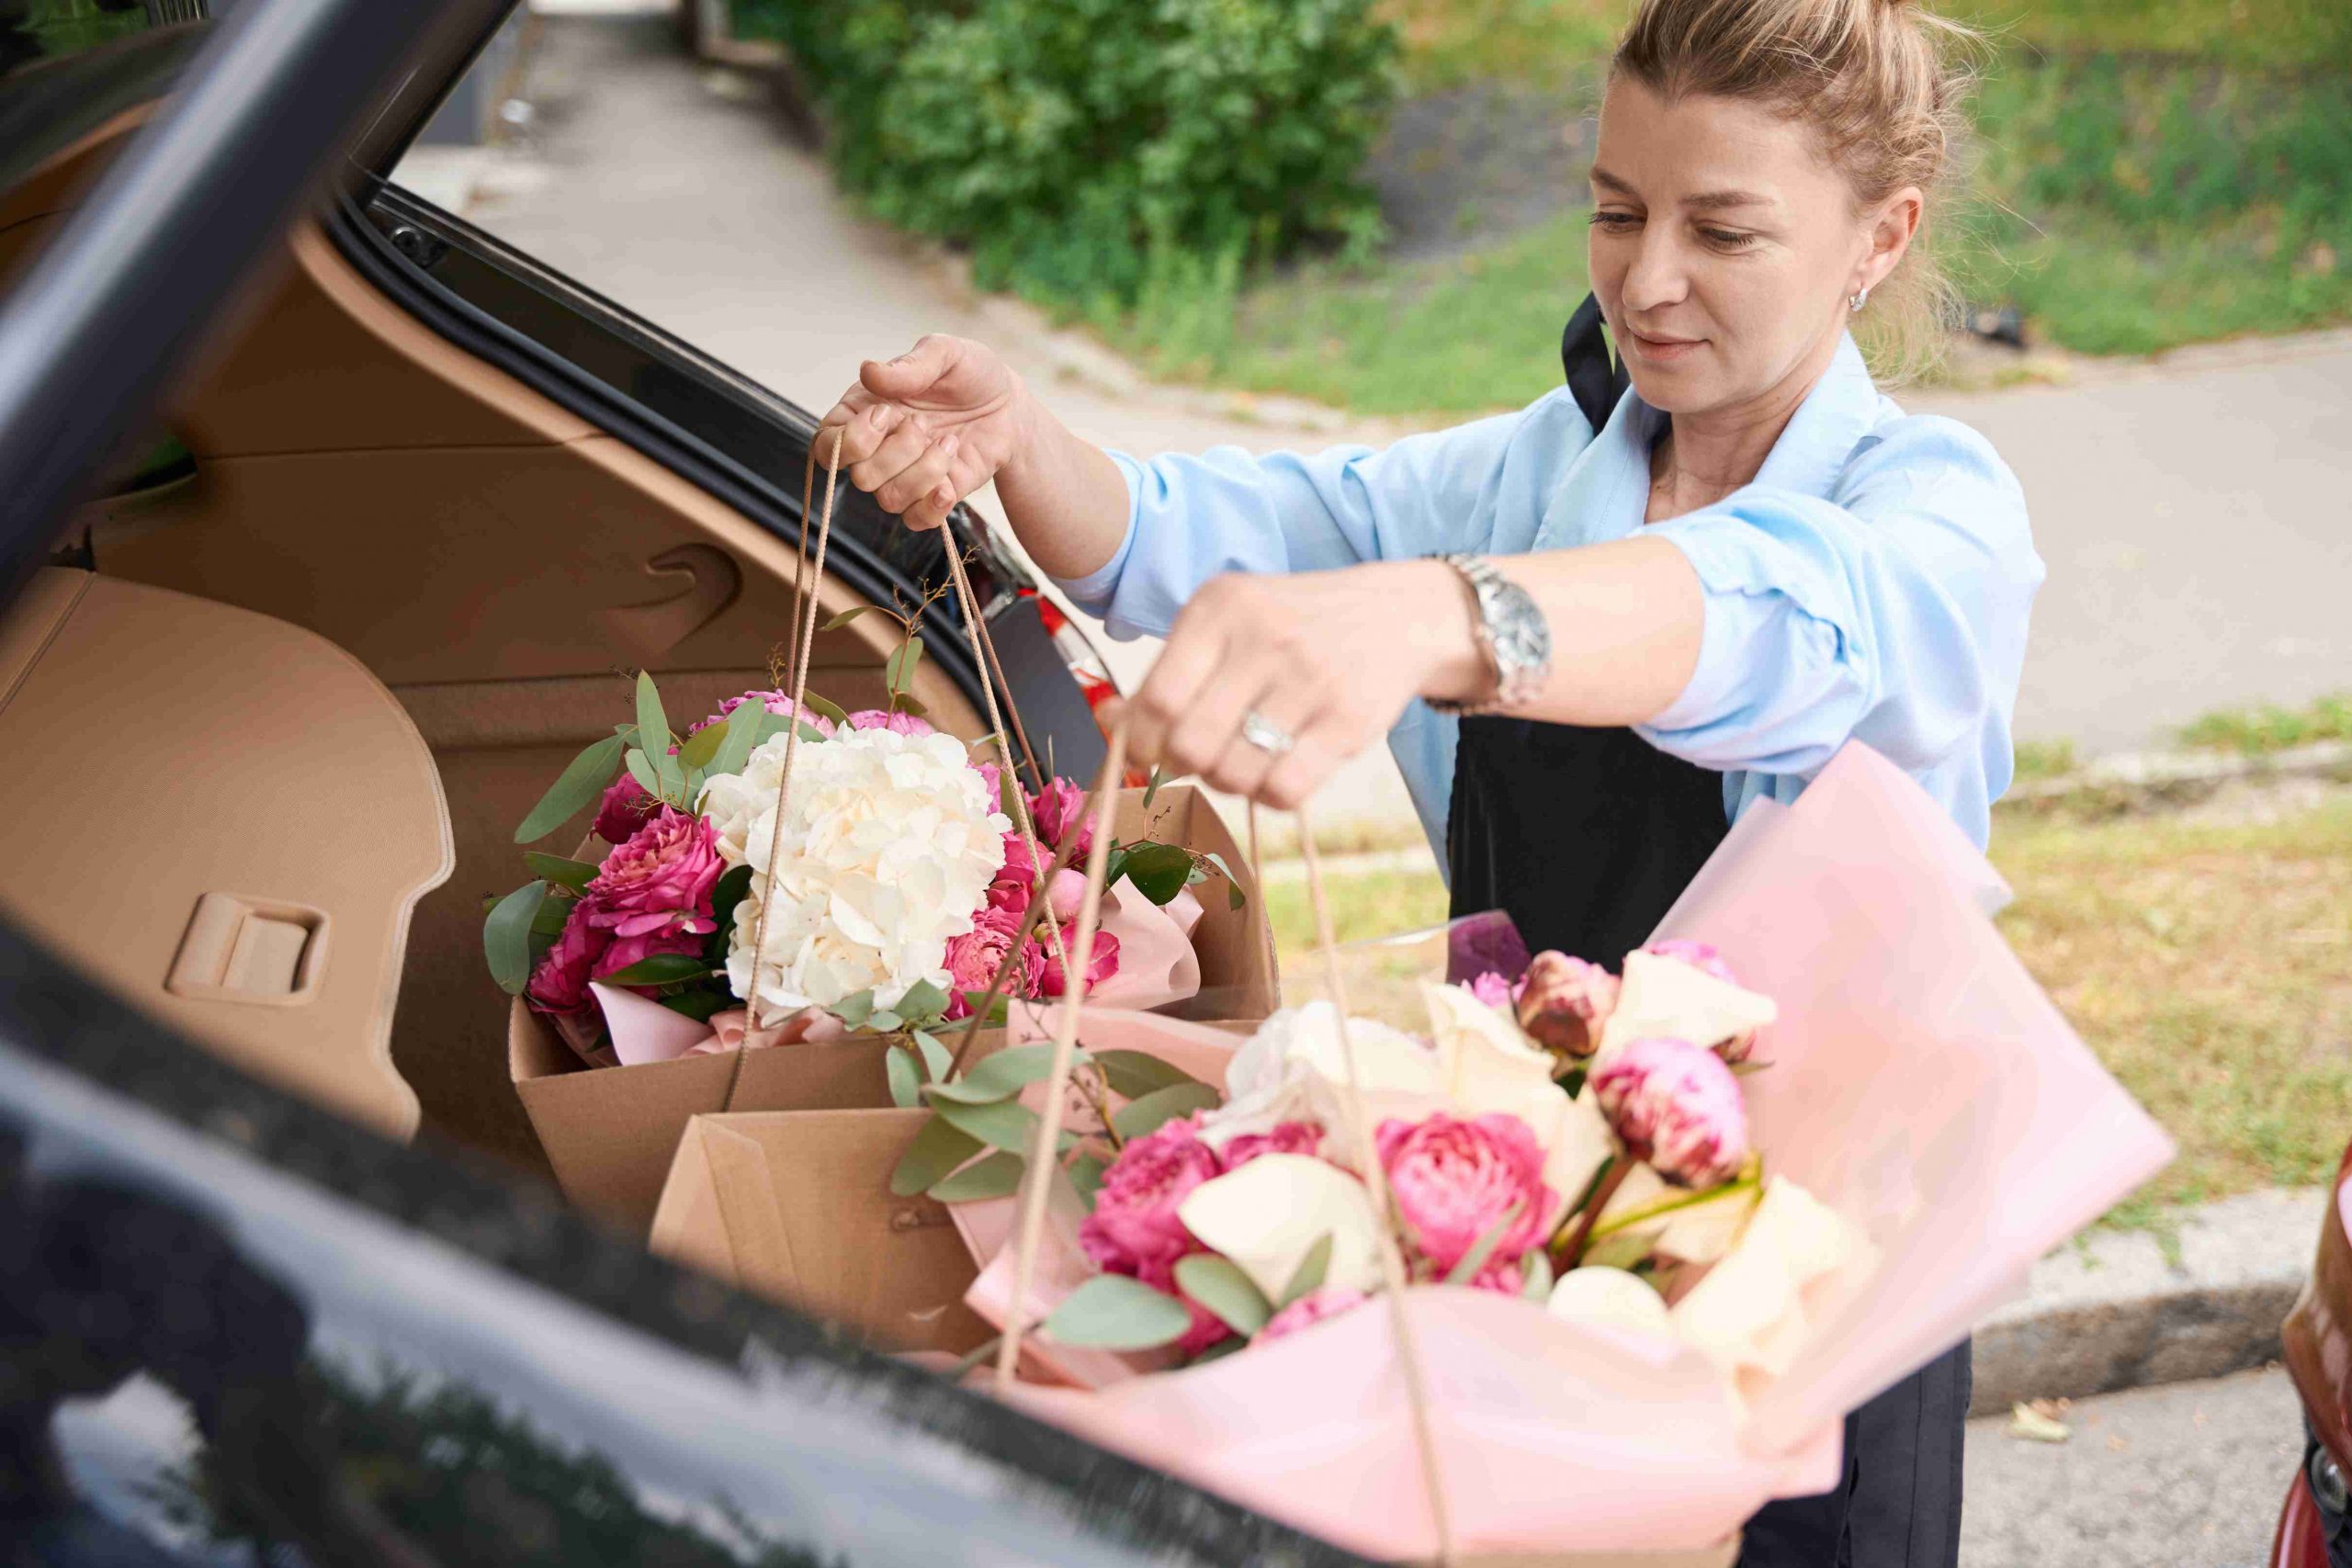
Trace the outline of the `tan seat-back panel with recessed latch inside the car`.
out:
<instances>
[{"instance_id":1,"label":"tan seat-back panel with recessed latch inside the car","mask_svg":"<svg viewBox=\"0 0 2352 1568\"><path fill-rule=\"evenodd\" d=\"M433 757L358 661L49 569L0 625L0 907L134 1006L386 1133L409 910L452 867Z\"/></svg>"}]
</instances>

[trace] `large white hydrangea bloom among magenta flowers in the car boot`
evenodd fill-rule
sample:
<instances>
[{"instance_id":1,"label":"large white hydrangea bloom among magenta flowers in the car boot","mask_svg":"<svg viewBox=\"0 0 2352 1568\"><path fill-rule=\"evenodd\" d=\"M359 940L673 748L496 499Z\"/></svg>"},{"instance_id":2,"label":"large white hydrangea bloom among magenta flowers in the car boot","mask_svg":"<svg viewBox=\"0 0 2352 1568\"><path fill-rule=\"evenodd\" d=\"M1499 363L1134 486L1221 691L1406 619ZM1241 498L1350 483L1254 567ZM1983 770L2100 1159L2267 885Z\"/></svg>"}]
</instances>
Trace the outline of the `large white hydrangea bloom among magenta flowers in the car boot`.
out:
<instances>
[{"instance_id":1,"label":"large white hydrangea bloom among magenta flowers in the car boot","mask_svg":"<svg viewBox=\"0 0 2352 1568\"><path fill-rule=\"evenodd\" d=\"M762 743L741 773L713 778L701 802L727 865L753 867L727 947L734 994L748 999L771 872L762 1023L863 990L875 1006L894 1006L917 980L950 985L948 938L971 931L1011 832L962 741L887 729L802 738L779 837L783 745L786 736Z\"/></svg>"}]
</instances>

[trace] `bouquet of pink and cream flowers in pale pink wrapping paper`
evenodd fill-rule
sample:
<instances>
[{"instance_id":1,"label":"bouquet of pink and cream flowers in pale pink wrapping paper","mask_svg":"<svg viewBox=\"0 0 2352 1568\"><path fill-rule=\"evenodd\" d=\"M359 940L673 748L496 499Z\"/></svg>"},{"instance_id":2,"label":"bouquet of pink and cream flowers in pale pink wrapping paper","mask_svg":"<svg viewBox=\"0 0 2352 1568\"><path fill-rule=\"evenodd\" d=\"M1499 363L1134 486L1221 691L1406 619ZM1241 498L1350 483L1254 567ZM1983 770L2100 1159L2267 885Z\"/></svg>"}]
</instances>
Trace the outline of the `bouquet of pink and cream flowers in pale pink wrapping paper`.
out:
<instances>
[{"instance_id":1,"label":"bouquet of pink and cream flowers in pale pink wrapping paper","mask_svg":"<svg viewBox=\"0 0 2352 1568\"><path fill-rule=\"evenodd\" d=\"M1221 1086L1152 1088L1157 1025L1124 1018L1141 1098L1056 1112L1040 1072L1011 1110L1042 1126L1004 1114L929 1187L967 1305L1035 1326L997 1392L1369 1556L1719 1552L1832 1486L1846 1410L2171 1154L2002 943L1994 886L1849 745L1616 973L1449 966L1406 1027L1275 1013L1192 1074ZM1002 1178L955 1201L1056 1124L1035 1232L978 1197Z\"/></svg>"}]
</instances>

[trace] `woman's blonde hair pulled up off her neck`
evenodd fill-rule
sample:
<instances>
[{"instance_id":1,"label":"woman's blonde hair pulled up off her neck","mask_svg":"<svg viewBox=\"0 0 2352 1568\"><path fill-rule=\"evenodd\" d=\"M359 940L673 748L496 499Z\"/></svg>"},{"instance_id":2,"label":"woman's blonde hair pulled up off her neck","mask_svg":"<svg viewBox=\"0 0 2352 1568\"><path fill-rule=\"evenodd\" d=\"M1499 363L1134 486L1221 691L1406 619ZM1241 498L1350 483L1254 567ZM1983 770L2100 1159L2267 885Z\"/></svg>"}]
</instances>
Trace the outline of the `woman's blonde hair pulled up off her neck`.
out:
<instances>
[{"instance_id":1,"label":"woman's blonde hair pulled up off her neck","mask_svg":"<svg viewBox=\"0 0 2352 1568\"><path fill-rule=\"evenodd\" d=\"M1943 357L1955 313L1933 240L1959 181L1980 47L1980 33L1912 0L1642 0L1611 75L1806 125L1860 207L1903 186L1926 193L1910 254L1853 320L1870 367L1903 381Z\"/></svg>"}]
</instances>

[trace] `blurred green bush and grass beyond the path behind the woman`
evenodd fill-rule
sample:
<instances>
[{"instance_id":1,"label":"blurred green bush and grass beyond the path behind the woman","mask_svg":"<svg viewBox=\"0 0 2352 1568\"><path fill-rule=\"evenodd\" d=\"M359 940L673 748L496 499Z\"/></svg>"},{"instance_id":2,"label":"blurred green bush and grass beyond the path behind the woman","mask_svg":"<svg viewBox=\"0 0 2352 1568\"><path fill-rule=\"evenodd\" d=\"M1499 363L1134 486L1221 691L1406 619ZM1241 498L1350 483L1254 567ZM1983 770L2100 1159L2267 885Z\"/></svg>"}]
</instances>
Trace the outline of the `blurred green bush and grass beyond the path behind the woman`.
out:
<instances>
[{"instance_id":1,"label":"blurred green bush and grass beyond the path behind the woman","mask_svg":"<svg viewBox=\"0 0 2352 1568\"><path fill-rule=\"evenodd\" d=\"M2352 5L1955 0L1985 31L1945 247L2074 353L2352 315ZM1171 378L1522 402L1583 284L1625 0L736 0L875 214Z\"/></svg>"}]
</instances>

